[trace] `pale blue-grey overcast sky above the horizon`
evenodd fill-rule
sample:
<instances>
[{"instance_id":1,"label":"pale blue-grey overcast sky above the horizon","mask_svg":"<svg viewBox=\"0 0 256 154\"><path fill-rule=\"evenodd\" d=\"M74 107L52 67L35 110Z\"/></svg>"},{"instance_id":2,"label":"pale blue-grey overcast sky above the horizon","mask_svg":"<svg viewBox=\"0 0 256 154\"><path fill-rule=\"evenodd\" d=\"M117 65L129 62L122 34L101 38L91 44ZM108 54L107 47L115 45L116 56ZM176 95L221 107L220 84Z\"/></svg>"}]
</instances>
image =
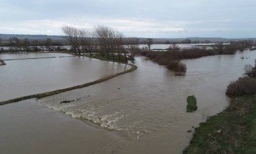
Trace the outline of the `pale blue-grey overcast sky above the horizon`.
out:
<instances>
[{"instance_id":1,"label":"pale blue-grey overcast sky above the horizon","mask_svg":"<svg viewBox=\"0 0 256 154\"><path fill-rule=\"evenodd\" d=\"M106 25L127 37L256 37L256 0L0 0L0 33Z\"/></svg>"}]
</instances>

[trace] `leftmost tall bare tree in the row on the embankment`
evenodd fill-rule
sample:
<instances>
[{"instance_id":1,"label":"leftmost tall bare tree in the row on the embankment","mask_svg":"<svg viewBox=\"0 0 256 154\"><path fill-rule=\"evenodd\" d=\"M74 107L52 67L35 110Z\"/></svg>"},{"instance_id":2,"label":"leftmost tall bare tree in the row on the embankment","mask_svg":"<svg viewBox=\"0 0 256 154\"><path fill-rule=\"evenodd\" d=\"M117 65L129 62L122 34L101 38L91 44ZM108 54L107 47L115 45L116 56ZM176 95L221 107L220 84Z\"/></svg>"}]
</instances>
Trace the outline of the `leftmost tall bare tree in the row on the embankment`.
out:
<instances>
[{"instance_id":1,"label":"leftmost tall bare tree in the row on the embankment","mask_svg":"<svg viewBox=\"0 0 256 154\"><path fill-rule=\"evenodd\" d=\"M67 40L71 44L75 54L81 55L80 51L80 39L79 39L79 29L70 26L64 26L61 28L63 33L67 36Z\"/></svg>"}]
</instances>

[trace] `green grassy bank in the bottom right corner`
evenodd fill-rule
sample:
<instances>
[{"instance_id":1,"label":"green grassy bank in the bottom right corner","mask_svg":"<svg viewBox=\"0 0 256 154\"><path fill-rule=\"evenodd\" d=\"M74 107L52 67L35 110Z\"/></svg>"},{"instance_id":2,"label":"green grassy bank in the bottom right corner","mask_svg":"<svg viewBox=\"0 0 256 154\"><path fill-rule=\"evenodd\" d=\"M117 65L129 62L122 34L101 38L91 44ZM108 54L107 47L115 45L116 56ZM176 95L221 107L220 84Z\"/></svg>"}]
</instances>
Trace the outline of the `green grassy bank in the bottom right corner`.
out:
<instances>
[{"instance_id":1,"label":"green grassy bank in the bottom right corner","mask_svg":"<svg viewBox=\"0 0 256 154\"><path fill-rule=\"evenodd\" d=\"M256 96L236 98L201 123L183 153L256 153Z\"/></svg>"}]
</instances>

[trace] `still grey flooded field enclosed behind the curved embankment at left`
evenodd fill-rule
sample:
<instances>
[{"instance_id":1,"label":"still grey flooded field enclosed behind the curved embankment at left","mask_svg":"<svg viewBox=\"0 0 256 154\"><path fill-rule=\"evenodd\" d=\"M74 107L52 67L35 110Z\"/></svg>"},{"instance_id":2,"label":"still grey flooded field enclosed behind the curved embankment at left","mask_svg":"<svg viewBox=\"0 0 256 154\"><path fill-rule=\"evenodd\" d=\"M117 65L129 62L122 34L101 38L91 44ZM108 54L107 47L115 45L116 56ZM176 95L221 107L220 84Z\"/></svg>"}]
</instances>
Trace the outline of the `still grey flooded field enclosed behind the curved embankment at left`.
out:
<instances>
[{"instance_id":1,"label":"still grey flooded field enclosed behind the curved embankment at left","mask_svg":"<svg viewBox=\"0 0 256 154\"><path fill-rule=\"evenodd\" d=\"M0 67L0 101L77 86L123 72L130 68L90 58L64 57L69 54L0 54L7 60ZM47 58L55 57L55 58Z\"/></svg>"}]
</instances>

